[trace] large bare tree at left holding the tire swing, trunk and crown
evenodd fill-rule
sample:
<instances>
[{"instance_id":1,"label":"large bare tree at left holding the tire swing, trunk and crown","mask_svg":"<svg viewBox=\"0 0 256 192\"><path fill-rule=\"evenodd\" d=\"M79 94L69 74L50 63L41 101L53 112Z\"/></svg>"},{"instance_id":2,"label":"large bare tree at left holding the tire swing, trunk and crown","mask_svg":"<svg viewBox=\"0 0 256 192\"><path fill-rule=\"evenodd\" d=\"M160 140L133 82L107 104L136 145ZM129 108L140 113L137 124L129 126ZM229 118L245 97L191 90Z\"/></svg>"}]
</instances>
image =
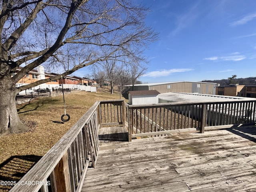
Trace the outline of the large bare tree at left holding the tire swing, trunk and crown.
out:
<instances>
[{"instance_id":1,"label":"large bare tree at left holding the tire swing, trunk and crown","mask_svg":"<svg viewBox=\"0 0 256 192\"><path fill-rule=\"evenodd\" d=\"M142 48L157 38L144 24L148 8L129 0L1 0L0 8L0 135L28 129L16 110L18 92L111 58L145 60ZM41 64L61 73L16 88Z\"/></svg>"}]
</instances>

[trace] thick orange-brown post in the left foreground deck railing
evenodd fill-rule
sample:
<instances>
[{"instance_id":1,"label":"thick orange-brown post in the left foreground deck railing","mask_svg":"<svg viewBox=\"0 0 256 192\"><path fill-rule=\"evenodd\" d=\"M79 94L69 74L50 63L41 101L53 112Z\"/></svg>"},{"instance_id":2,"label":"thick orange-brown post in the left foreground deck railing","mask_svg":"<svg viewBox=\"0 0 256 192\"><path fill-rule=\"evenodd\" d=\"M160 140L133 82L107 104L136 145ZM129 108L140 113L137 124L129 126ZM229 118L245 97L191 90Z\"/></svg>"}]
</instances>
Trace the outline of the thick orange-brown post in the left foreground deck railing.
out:
<instances>
[{"instance_id":1,"label":"thick orange-brown post in the left foreground deck railing","mask_svg":"<svg viewBox=\"0 0 256 192\"><path fill-rule=\"evenodd\" d=\"M61 158L60 162L56 165L55 169L56 186L57 190L61 192L70 192L70 173L68 167L68 153L66 152Z\"/></svg>"}]
</instances>

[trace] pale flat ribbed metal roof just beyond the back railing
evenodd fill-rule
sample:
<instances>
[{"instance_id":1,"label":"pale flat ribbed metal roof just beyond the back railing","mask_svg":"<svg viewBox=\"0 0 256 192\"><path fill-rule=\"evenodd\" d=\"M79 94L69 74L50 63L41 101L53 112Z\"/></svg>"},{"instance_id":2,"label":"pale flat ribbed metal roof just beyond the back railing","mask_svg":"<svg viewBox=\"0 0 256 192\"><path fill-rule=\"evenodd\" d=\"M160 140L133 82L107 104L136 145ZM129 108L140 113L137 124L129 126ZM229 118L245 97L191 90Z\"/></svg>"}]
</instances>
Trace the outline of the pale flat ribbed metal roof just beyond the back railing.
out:
<instances>
[{"instance_id":1,"label":"pale flat ribbed metal roof just beyond the back railing","mask_svg":"<svg viewBox=\"0 0 256 192\"><path fill-rule=\"evenodd\" d=\"M234 100L256 100L256 98L248 97L234 97L234 96L222 96L222 95L208 95L198 93L163 93L159 94L158 98L166 100L166 102L222 102L222 101L234 101Z\"/></svg>"}]
</instances>

